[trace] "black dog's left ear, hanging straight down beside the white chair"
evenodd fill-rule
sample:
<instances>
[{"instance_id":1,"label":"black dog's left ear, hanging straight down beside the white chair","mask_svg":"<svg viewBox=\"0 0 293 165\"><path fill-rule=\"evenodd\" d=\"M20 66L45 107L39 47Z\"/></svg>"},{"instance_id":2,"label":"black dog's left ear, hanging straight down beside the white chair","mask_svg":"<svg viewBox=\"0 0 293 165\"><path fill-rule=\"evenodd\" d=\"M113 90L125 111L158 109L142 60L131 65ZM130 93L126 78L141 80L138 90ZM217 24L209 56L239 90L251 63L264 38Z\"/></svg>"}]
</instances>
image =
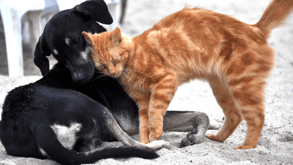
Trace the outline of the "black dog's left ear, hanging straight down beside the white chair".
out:
<instances>
[{"instance_id":1,"label":"black dog's left ear, hanging straight down beside the white chair","mask_svg":"<svg viewBox=\"0 0 293 165\"><path fill-rule=\"evenodd\" d=\"M35 48L34 63L40 68L42 75L45 77L49 73L49 60L46 56L50 56L51 53L49 53L48 49L44 48L42 44L42 36L40 36Z\"/></svg>"}]
</instances>

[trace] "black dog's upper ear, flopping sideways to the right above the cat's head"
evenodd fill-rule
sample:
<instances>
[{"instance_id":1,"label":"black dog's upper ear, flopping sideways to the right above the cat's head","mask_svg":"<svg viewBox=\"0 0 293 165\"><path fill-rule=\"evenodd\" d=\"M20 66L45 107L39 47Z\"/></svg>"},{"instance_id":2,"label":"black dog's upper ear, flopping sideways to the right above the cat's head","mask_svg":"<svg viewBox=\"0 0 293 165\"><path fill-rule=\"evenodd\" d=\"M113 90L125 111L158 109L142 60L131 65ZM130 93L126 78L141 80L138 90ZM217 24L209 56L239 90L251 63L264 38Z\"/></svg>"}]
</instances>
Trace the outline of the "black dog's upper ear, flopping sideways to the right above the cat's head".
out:
<instances>
[{"instance_id":1,"label":"black dog's upper ear, flopping sideways to the right above the cat's head","mask_svg":"<svg viewBox=\"0 0 293 165\"><path fill-rule=\"evenodd\" d=\"M110 25L113 18L108 11L108 7L103 0L85 1L73 8L73 11L81 16L92 18L94 21Z\"/></svg>"}]
</instances>

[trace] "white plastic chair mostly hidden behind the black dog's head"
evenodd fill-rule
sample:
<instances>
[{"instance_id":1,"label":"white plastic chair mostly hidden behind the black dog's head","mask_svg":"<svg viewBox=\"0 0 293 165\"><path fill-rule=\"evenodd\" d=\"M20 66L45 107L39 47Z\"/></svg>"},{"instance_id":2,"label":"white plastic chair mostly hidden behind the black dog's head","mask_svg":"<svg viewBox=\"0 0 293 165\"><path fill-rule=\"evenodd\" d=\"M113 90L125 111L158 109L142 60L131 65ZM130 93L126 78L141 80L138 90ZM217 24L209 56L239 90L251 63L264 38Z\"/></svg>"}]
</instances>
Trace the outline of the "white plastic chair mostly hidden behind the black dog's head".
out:
<instances>
[{"instance_id":1,"label":"white plastic chair mostly hidden behind the black dog's head","mask_svg":"<svg viewBox=\"0 0 293 165\"><path fill-rule=\"evenodd\" d=\"M59 10L66 10L66 9L71 9L74 6L81 4L85 0L57 0L57 4L59 7ZM109 13L111 14L113 18L113 23L110 25L110 30L114 30L117 26L119 26L118 22L118 12L117 12L117 4L120 2L120 0L104 0L105 3L107 4Z\"/></svg>"}]
</instances>

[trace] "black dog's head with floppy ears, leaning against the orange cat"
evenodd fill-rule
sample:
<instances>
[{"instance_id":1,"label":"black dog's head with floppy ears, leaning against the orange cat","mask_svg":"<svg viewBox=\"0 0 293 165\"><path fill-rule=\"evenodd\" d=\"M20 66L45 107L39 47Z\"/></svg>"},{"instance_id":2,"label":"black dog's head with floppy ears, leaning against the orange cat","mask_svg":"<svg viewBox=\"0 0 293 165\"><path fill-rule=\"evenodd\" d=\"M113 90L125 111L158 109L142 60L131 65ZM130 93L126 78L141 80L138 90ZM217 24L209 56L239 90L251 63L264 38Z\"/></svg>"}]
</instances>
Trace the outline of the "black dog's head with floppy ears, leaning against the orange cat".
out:
<instances>
[{"instance_id":1,"label":"black dog's head with floppy ears, leaning against the orange cat","mask_svg":"<svg viewBox=\"0 0 293 165\"><path fill-rule=\"evenodd\" d=\"M70 70L74 82L85 83L91 80L95 67L90 47L82 32L94 34L106 31L97 22L113 22L103 0L85 1L73 9L55 14L46 24L35 48L34 63L40 68L42 75L49 73L49 60L46 56L52 54Z\"/></svg>"}]
</instances>

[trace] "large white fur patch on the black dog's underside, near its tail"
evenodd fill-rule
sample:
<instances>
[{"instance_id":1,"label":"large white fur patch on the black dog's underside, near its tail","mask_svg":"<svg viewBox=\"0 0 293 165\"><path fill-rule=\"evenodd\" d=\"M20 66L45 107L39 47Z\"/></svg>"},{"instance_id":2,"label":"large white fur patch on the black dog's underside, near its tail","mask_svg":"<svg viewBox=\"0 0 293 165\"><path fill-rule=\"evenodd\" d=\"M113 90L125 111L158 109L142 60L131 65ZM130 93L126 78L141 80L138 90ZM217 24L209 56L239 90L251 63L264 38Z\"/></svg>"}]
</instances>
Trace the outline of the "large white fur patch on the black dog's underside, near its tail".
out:
<instances>
[{"instance_id":1,"label":"large white fur patch on the black dog's underside, near its tail","mask_svg":"<svg viewBox=\"0 0 293 165\"><path fill-rule=\"evenodd\" d=\"M77 140L76 133L81 130L82 124L71 123L69 127L54 124L50 127L55 132L57 139L62 146L67 149L72 149Z\"/></svg>"}]
</instances>

